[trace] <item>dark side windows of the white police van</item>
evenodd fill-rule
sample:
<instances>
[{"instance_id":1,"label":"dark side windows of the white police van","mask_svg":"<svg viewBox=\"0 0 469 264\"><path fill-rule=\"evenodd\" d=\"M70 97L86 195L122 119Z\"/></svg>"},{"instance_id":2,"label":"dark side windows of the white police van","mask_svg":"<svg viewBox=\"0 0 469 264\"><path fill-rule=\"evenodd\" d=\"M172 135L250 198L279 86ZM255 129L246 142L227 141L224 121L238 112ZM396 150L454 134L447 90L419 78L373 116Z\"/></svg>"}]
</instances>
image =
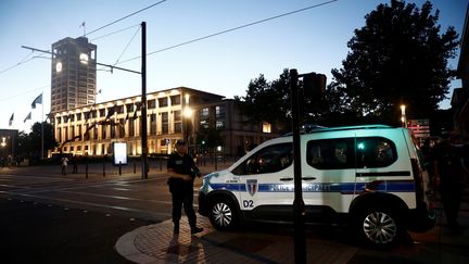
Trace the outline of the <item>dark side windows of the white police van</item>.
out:
<instances>
[{"instance_id":1,"label":"dark side windows of the white police van","mask_svg":"<svg viewBox=\"0 0 469 264\"><path fill-rule=\"evenodd\" d=\"M397 160L393 141L382 137L310 140L306 162L317 169L385 167ZM236 175L280 172L293 163L293 144L278 143L258 150L233 169Z\"/></svg>"}]
</instances>

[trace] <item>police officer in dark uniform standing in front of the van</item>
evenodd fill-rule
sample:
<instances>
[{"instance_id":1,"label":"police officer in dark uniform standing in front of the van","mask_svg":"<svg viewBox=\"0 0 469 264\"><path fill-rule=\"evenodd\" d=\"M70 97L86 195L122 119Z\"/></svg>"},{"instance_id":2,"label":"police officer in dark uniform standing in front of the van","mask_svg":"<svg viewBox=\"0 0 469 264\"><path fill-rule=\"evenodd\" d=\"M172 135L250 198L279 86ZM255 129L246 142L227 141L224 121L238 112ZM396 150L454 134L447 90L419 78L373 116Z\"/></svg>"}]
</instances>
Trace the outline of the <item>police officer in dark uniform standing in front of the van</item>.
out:
<instances>
[{"instance_id":1,"label":"police officer in dark uniform standing in front of the van","mask_svg":"<svg viewBox=\"0 0 469 264\"><path fill-rule=\"evenodd\" d=\"M203 231L203 228L197 227L197 216L192 205L193 180L195 176L201 176L201 174L192 156L188 153L186 141L182 139L176 141L175 152L169 155L167 173L169 175L167 184L173 197L174 232L179 234L182 206L189 219L191 234Z\"/></svg>"}]
</instances>

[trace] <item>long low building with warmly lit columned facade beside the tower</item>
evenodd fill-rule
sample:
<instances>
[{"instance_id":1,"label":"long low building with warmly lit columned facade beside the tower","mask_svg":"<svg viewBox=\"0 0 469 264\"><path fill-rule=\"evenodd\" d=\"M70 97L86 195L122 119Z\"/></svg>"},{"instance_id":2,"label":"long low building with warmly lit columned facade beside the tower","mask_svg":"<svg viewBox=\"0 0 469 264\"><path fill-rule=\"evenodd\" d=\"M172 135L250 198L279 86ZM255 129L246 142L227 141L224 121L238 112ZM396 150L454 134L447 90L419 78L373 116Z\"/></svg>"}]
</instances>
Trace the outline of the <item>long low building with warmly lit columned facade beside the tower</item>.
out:
<instances>
[{"instance_id":1,"label":"long low building with warmly lit columned facade beside the tower","mask_svg":"<svg viewBox=\"0 0 469 264\"><path fill-rule=\"evenodd\" d=\"M105 155L112 153L113 142L127 142L128 154L140 155L141 122L147 122L150 155L170 153L180 138L188 140L192 152L206 151L207 131L217 135L217 151L226 155L243 154L276 136L269 124L243 122L233 100L187 87L149 93L147 117L140 110L141 97L130 97L56 112L60 147L53 152Z\"/></svg>"}]
</instances>

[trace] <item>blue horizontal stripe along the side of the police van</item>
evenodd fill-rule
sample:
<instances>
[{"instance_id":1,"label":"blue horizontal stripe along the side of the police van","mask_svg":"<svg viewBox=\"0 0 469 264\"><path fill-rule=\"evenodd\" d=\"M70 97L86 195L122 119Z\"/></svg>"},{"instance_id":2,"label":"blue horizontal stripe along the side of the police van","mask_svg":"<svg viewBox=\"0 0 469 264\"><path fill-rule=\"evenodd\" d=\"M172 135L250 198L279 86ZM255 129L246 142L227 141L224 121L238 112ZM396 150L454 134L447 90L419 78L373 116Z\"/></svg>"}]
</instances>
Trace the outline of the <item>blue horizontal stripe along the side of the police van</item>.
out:
<instances>
[{"instance_id":1,"label":"blue horizontal stripe along the side of the police van","mask_svg":"<svg viewBox=\"0 0 469 264\"><path fill-rule=\"evenodd\" d=\"M245 184L210 184L214 190L248 191ZM293 184L261 184L258 192L293 192ZM321 183L303 185L303 192L357 193L364 191L413 192L413 180L376 180L371 183Z\"/></svg>"}]
</instances>

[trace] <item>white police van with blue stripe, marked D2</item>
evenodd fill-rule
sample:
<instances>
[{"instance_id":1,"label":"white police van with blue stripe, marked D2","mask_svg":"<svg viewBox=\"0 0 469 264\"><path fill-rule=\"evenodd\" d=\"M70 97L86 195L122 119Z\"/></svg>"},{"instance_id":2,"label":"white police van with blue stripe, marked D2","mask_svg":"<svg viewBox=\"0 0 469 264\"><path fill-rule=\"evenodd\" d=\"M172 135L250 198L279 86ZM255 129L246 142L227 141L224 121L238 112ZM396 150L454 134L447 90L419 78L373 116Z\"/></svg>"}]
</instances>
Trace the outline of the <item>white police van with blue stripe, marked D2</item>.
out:
<instances>
[{"instance_id":1,"label":"white police van with blue stripe, marked D2","mask_svg":"<svg viewBox=\"0 0 469 264\"><path fill-rule=\"evenodd\" d=\"M292 137L259 144L229 168L203 178L199 212L218 230L241 221L293 219ZM434 217L419 149L406 128L318 128L301 135L305 222L346 219L357 238L392 244Z\"/></svg>"}]
</instances>

